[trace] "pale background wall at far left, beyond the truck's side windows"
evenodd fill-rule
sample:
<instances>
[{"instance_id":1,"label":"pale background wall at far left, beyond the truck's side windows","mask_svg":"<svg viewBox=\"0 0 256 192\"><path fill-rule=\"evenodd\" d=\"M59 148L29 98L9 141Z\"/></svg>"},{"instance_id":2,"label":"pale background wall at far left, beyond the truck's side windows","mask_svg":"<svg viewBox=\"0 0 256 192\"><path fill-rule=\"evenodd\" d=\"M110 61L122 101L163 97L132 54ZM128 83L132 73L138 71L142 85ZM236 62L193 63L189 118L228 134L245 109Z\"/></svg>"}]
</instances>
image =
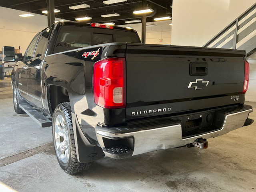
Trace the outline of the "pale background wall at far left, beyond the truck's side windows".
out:
<instances>
[{"instance_id":1,"label":"pale background wall at far left, beyond the truck's side windows","mask_svg":"<svg viewBox=\"0 0 256 192\"><path fill-rule=\"evenodd\" d=\"M26 12L0 7L0 50L3 46L13 46L16 49L20 46L20 52L24 54L32 38L48 26L47 16L19 16L24 13Z\"/></svg>"}]
</instances>

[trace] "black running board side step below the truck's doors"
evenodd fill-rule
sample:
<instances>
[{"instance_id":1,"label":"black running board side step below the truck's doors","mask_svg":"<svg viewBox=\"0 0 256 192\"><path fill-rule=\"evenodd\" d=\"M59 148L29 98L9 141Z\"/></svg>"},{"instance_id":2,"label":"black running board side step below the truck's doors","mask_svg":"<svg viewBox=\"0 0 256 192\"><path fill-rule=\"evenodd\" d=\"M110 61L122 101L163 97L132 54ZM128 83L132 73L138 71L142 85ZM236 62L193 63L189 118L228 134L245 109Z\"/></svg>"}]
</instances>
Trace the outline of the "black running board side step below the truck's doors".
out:
<instances>
[{"instance_id":1,"label":"black running board side step below the truck's doors","mask_svg":"<svg viewBox=\"0 0 256 192\"><path fill-rule=\"evenodd\" d=\"M22 110L24 110L24 112L28 114L34 121L36 121L41 127L52 126L52 121L30 104L22 103L20 104L20 108L22 108Z\"/></svg>"}]
</instances>

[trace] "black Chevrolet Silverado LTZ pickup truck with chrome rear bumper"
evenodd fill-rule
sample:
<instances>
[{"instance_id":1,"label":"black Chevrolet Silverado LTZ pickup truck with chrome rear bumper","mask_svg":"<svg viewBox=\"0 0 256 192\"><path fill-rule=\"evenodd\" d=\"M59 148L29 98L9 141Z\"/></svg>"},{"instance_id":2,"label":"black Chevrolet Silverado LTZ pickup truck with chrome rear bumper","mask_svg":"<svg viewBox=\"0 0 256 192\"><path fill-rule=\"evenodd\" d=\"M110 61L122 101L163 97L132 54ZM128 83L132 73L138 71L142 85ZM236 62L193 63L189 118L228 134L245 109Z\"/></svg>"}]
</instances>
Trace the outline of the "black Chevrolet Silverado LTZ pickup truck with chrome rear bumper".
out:
<instances>
[{"instance_id":1,"label":"black Chevrolet Silverado LTZ pickup truck with chrome rear bumper","mask_svg":"<svg viewBox=\"0 0 256 192\"><path fill-rule=\"evenodd\" d=\"M142 44L134 30L58 22L12 71L16 113L52 126L61 168L197 146L252 124L246 52Z\"/></svg>"}]
</instances>

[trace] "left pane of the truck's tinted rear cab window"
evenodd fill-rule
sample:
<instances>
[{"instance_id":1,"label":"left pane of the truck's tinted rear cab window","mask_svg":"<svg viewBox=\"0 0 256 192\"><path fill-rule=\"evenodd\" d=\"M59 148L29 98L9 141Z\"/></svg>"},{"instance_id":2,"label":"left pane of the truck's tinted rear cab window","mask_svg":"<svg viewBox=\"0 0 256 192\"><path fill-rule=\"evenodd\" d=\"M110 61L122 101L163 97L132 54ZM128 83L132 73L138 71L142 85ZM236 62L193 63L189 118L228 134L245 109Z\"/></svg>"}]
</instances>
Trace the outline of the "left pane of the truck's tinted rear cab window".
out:
<instances>
[{"instance_id":1,"label":"left pane of the truck's tinted rear cab window","mask_svg":"<svg viewBox=\"0 0 256 192\"><path fill-rule=\"evenodd\" d=\"M53 53L91 46L90 27L62 26Z\"/></svg>"}]
</instances>

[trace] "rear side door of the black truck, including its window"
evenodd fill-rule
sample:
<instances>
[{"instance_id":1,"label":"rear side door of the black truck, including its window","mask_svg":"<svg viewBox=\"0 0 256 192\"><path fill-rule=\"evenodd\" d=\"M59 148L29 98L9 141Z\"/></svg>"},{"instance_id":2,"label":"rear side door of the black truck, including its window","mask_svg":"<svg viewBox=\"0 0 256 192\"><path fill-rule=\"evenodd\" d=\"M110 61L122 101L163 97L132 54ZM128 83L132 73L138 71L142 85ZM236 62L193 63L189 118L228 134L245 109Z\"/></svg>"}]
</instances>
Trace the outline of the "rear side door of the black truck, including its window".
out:
<instances>
[{"instance_id":1,"label":"rear side door of the black truck, including its window","mask_svg":"<svg viewBox=\"0 0 256 192\"><path fill-rule=\"evenodd\" d=\"M42 108L41 101L41 66L44 60L44 55L48 45L48 39L51 33L51 28L48 28L40 33L38 43L36 45L34 58L28 63L27 69L27 84L29 101L37 107Z\"/></svg>"}]
</instances>

